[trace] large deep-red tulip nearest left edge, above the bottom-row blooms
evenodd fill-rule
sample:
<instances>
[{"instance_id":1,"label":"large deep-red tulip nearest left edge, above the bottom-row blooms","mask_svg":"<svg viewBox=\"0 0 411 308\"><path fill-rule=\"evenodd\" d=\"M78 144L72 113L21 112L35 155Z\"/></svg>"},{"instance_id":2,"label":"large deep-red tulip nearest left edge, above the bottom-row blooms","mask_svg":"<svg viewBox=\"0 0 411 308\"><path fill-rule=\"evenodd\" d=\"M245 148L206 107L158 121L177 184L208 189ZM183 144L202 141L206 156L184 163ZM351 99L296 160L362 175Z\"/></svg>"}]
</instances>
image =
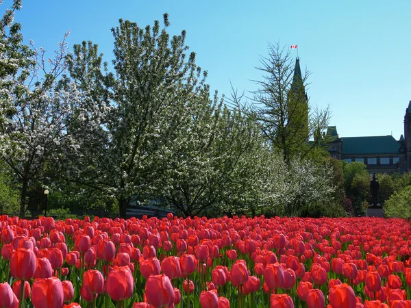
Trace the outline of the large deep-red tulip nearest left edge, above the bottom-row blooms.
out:
<instances>
[{"instance_id":1,"label":"large deep-red tulip nearest left edge, above the bottom-row blooms","mask_svg":"<svg viewBox=\"0 0 411 308\"><path fill-rule=\"evenodd\" d=\"M16 248L10 258L10 273L17 280L30 280L36 270L36 255L25 248Z\"/></svg>"}]
</instances>

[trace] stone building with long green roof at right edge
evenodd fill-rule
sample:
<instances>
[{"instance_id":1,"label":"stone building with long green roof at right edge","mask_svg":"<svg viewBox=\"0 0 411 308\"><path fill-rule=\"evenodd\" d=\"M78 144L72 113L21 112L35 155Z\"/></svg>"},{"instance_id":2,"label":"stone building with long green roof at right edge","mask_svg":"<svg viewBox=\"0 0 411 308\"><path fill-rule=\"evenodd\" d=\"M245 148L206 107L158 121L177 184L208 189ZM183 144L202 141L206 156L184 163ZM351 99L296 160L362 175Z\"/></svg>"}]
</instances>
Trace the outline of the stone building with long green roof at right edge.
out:
<instances>
[{"instance_id":1,"label":"stone building with long green roof at right edge","mask_svg":"<svg viewBox=\"0 0 411 308\"><path fill-rule=\"evenodd\" d=\"M404 116L404 135L399 140L389 135L340 137L335 126L328 127L327 134L335 138L328 151L336 159L363 162L369 172L392 174L411 170L411 101Z\"/></svg>"}]
</instances>

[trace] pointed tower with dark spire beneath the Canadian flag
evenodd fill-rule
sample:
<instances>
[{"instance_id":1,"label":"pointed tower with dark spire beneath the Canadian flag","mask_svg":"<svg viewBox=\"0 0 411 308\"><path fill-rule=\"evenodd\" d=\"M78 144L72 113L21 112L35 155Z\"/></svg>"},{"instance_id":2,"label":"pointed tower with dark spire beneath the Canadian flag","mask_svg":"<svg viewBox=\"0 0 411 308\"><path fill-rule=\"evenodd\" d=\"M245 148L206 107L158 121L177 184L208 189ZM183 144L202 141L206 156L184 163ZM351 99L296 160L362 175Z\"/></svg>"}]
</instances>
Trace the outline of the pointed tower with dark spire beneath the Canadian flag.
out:
<instances>
[{"instance_id":1,"label":"pointed tower with dark spire beneath the Canadian flag","mask_svg":"<svg viewBox=\"0 0 411 308\"><path fill-rule=\"evenodd\" d=\"M294 76L290 92L288 92L288 125L295 130L298 139L308 141L308 97L304 86L299 58L295 60Z\"/></svg>"}]
</instances>

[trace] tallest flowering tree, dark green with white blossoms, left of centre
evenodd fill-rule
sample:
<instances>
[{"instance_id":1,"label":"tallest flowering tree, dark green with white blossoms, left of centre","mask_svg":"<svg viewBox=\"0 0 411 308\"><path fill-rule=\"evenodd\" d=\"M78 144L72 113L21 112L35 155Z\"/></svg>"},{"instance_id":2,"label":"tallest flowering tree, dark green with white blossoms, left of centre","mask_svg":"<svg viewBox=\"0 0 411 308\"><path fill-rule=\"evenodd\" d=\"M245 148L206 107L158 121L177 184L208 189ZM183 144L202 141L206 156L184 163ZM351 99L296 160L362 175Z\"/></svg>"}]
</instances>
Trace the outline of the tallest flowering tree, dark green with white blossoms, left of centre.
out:
<instances>
[{"instance_id":1,"label":"tallest flowering tree, dark green with white blossoms, left of centre","mask_svg":"<svg viewBox=\"0 0 411 308\"><path fill-rule=\"evenodd\" d=\"M208 93L206 75L186 55L186 32L169 37L155 21L145 29L120 20L114 36L114 73L108 73L97 45L76 45L69 55L70 77L95 107L108 108L92 140L79 138L82 155L73 155L66 179L119 201L125 217L132 196L158 196L171 168L171 148L187 108Z\"/></svg>"}]
</instances>

